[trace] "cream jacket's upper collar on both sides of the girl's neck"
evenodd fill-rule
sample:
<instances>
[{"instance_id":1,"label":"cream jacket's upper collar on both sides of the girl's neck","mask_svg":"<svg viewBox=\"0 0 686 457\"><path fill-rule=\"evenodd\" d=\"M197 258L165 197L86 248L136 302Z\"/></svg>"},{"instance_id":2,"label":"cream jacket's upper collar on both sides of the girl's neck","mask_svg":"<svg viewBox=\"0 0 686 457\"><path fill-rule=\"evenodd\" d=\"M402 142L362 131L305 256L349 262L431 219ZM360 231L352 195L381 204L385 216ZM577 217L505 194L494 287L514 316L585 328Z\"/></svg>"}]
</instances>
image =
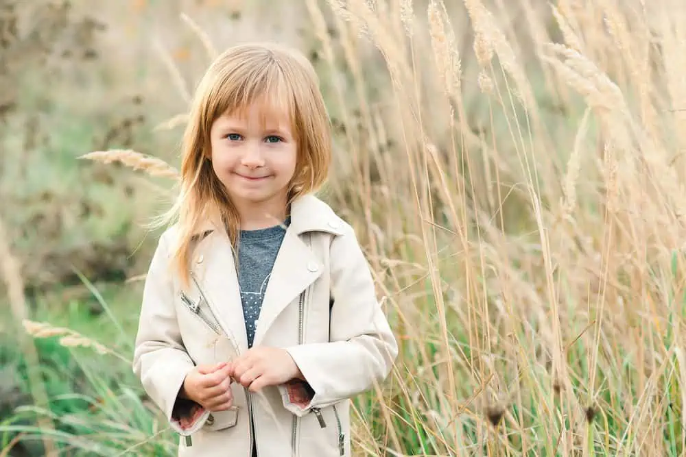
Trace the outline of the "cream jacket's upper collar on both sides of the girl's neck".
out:
<instances>
[{"instance_id":1,"label":"cream jacket's upper collar on both sides of the girl's neck","mask_svg":"<svg viewBox=\"0 0 686 457\"><path fill-rule=\"evenodd\" d=\"M331 207L314 195L303 195L291 203L290 230L301 235L307 232L327 232L340 235L342 222ZM208 235L211 232L224 232L216 214L208 214L198 225L193 236Z\"/></svg>"}]
</instances>

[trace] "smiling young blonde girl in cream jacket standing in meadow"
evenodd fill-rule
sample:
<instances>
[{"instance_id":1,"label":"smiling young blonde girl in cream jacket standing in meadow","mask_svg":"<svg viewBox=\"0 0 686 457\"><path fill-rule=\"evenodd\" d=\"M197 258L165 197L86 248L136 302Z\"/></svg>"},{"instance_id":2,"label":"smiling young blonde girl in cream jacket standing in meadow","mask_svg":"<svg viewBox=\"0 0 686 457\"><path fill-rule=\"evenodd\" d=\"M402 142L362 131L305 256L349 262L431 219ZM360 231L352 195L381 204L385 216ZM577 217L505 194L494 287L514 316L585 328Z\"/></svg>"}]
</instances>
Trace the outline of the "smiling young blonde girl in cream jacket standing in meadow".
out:
<instances>
[{"instance_id":1,"label":"smiling young blonde girl in cream jacket standing in meadow","mask_svg":"<svg viewBox=\"0 0 686 457\"><path fill-rule=\"evenodd\" d=\"M198 86L133 362L181 456L350 456L350 399L390 372L355 233L313 195L330 135L292 49L233 47Z\"/></svg>"}]
</instances>

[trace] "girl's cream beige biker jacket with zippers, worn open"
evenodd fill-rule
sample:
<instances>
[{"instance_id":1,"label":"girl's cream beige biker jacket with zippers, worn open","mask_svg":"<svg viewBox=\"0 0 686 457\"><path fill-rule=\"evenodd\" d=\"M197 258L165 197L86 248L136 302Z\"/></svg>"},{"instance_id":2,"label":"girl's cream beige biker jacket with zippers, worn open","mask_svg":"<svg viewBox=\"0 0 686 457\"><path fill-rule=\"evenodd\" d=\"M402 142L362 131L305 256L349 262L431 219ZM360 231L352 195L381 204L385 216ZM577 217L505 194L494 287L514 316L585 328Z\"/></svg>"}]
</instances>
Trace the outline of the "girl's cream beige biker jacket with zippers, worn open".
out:
<instances>
[{"instance_id":1,"label":"girl's cream beige biker jacket with zippers, worn open","mask_svg":"<svg viewBox=\"0 0 686 457\"><path fill-rule=\"evenodd\" d=\"M174 419L186 374L246 351L246 328L225 232L208 225L198 233L189 288L167 269L175 227L159 241L143 291L133 369L181 435L180 456L250 457L250 410L259 457L350 456L350 399L382 382L397 357L352 227L314 196L295 201L291 216L255 346L289 351L311 387L305 406L291 402L303 384L248 393L234 382L233 410L202 411L189 430Z\"/></svg>"}]
</instances>

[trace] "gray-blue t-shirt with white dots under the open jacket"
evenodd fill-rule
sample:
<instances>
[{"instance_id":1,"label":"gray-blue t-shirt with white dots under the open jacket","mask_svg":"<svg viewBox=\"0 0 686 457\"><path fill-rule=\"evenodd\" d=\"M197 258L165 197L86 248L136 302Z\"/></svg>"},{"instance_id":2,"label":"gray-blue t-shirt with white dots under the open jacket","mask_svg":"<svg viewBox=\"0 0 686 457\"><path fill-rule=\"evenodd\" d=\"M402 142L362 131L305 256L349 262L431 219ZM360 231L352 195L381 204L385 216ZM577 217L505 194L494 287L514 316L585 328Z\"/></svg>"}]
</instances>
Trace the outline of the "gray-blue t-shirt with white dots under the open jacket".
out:
<instances>
[{"instance_id":1,"label":"gray-blue t-shirt with white dots under the open jacket","mask_svg":"<svg viewBox=\"0 0 686 457\"><path fill-rule=\"evenodd\" d=\"M284 225L288 224L289 219L286 219ZM255 339L255 323L259 318L262 299L285 233L281 225L261 230L241 230L238 243L238 284L241 288L248 347L252 347Z\"/></svg>"}]
</instances>

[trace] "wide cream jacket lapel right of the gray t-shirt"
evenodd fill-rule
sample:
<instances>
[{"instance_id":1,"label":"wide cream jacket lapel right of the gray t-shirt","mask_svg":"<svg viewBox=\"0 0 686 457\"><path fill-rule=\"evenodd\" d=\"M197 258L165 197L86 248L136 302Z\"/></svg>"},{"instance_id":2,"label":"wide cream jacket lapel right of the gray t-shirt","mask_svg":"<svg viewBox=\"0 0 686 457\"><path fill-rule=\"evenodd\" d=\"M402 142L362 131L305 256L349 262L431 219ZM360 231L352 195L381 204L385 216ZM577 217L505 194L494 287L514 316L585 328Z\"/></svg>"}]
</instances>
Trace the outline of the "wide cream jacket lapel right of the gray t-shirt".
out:
<instances>
[{"instance_id":1,"label":"wide cream jacket lapel right of the gray t-shirt","mask_svg":"<svg viewBox=\"0 0 686 457\"><path fill-rule=\"evenodd\" d=\"M293 227L286 230L262 301L255 345L277 316L322 274L323 266Z\"/></svg>"}]
</instances>

